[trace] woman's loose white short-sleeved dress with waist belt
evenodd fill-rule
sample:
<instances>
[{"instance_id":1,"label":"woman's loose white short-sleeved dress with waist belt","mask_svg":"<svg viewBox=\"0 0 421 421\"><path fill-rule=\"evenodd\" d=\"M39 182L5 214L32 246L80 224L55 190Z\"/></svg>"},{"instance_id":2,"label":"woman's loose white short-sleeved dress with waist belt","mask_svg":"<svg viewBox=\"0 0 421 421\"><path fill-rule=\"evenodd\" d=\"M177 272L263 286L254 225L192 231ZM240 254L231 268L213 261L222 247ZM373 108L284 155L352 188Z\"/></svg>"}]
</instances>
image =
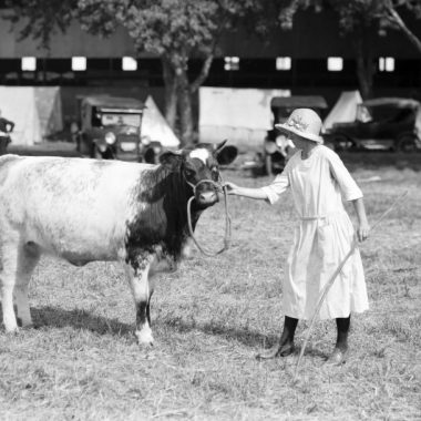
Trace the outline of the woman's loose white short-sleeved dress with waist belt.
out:
<instances>
[{"instance_id":1,"label":"woman's loose white short-sleeved dress with waist belt","mask_svg":"<svg viewBox=\"0 0 421 421\"><path fill-rule=\"evenodd\" d=\"M307 160L301 160L298 151L263 189L274 204L289 187L300 222L283 279L283 308L286 316L310 319L324 286L349 251L355 235L342 197L353 201L362 193L339 156L324 145L316 146ZM364 274L356 249L330 288L320 319L367 309Z\"/></svg>"}]
</instances>

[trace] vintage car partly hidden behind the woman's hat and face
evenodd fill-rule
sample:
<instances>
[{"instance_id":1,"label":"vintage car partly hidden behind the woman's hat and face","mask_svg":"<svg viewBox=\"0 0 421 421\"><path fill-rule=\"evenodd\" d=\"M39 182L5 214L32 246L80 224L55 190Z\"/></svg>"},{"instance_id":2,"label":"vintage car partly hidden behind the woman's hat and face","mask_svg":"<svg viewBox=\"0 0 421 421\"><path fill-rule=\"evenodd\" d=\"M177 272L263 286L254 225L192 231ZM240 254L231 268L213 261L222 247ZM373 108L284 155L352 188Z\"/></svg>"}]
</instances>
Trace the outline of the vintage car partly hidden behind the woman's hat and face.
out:
<instances>
[{"instance_id":1,"label":"vintage car partly hidden behind the woman's hat and face","mask_svg":"<svg viewBox=\"0 0 421 421\"><path fill-rule=\"evenodd\" d=\"M322 116L328 104L322 96L312 95L274 96L270 101L274 127L267 131L263 152L264 171L268 175L280 173L294 153L294 144L275 129L275 124L285 123L292 110L300 107L312 109Z\"/></svg>"}]
</instances>

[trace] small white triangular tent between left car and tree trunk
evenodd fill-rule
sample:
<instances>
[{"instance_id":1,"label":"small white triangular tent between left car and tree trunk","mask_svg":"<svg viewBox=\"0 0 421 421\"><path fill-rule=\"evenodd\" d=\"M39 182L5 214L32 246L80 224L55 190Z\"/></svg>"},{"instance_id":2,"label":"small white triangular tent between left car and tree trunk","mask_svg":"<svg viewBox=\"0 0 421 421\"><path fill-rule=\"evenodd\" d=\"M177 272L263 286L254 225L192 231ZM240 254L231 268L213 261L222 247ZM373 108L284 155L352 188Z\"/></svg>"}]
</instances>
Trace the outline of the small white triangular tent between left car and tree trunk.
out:
<instances>
[{"instance_id":1,"label":"small white triangular tent between left car and tree trunk","mask_svg":"<svg viewBox=\"0 0 421 421\"><path fill-rule=\"evenodd\" d=\"M179 141L177 136L161 114L151 95L147 96L145 106L142 120L142 137L158 141L164 147L178 147Z\"/></svg>"}]
</instances>

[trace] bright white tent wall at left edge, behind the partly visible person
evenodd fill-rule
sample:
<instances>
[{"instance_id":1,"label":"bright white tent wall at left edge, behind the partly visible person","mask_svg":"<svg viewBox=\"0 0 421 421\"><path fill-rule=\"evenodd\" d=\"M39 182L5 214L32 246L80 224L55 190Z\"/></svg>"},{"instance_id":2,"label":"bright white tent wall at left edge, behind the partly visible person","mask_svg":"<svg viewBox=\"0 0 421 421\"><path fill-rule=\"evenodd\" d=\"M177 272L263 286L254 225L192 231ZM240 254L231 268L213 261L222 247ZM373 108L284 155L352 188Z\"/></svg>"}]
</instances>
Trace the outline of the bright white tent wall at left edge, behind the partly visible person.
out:
<instances>
[{"instance_id":1,"label":"bright white tent wall at left edge, behind the partly visible person","mask_svg":"<svg viewBox=\"0 0 421 421\"><path fill-rule=\"evenodd\" d=\"M0 110L14 123L11 138L14 145L33 145L42 141L41 123L31 86L0 86Z\"/></svg>"}]
</instances>

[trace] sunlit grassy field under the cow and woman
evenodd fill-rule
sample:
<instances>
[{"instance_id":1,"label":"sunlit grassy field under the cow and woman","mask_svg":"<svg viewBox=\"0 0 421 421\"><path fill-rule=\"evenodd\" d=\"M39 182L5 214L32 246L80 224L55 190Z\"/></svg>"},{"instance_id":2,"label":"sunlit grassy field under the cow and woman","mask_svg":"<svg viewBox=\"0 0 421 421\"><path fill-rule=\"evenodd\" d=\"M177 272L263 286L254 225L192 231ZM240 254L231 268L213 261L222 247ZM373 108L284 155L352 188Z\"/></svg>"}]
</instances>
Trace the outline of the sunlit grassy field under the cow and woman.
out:
<instances>
[{"instance_id":1,"label":"sunlit grassy field under the cow and woman","mask_svg":"<svg viewBox=\"0 0 421 421\"><path fill-rule=\"evenodd\" d=\"M255 359L283 322L279 279L295 215L289 194L273 207L230 198L232 248L215 258L195 251L158 279L150 351L135 343L134 307L117 265L74 268L44 258L30 296L37 329L0 330L0 419L420 420L421 173L373 170L376 160L349 165L371 222L404 189L410 195L361 246L370 310L352 318L345 366L324 364L333 321L316 324L295 384L297 353ZM224 176L248 186L269 182L245 172ZM208 247L220 245L222 215L219 204L199 220ZM299 324L298 350L307 328Z\"/></svg>"}]
</instances>

